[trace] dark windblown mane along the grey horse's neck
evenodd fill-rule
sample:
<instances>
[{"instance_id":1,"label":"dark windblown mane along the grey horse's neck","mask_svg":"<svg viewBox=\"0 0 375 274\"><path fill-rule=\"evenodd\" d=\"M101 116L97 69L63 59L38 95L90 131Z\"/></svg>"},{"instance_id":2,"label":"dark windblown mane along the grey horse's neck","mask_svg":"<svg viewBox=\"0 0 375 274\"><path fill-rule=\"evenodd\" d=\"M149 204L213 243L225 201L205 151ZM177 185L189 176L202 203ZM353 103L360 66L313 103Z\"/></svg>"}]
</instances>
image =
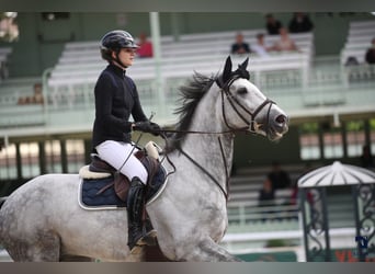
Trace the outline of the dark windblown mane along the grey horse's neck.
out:
<instances>
[{"instance_id":1,"label":"dark windblown mane along the grey horse's neck","mask_svg":"<svg viewBox=\"0 0 375 274\"><path fill-rule=\"evenodd\" d=\"M214 76L207 77L195 72L184 85L179 88L181 95L179 102L182 105L174 110L174 114L180 115L180 119L174 125L177 133L169 138L167 144L168 152L181 147L181 141L186 136L186 130L189 130L197 104L216 79L217 77Z\"/></svg>"}]
</instances>

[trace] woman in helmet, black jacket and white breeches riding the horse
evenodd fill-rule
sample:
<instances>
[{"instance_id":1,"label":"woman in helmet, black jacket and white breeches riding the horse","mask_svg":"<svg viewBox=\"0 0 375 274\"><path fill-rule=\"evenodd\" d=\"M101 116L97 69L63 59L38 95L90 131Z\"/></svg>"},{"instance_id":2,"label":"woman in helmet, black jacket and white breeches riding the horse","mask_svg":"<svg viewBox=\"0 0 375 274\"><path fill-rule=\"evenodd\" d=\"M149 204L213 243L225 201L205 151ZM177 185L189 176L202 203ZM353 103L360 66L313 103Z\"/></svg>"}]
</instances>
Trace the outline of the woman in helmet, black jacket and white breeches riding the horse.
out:
<instances>
[{"instance_id":1,"label":"woman in helmet, black jacket and white breeches riding the horse","mask_svg":"<svg viewBox=\"0 0 375 274\"><path fill-rule=\"evenodd\" d=\"M132 153L132 132L156 134L160 127L146 117L134 81L126 75L133 65L137 45L125 31L111 31L101 39L101 56L109 62L94 88L95 121L92 133L93 151L130 180L127 197L128 247L146 244L143 222L147 171ZM129 122L129 116L135 122ZM146 226L147 228L148 226Z\"/></svg>"}]
</instances>

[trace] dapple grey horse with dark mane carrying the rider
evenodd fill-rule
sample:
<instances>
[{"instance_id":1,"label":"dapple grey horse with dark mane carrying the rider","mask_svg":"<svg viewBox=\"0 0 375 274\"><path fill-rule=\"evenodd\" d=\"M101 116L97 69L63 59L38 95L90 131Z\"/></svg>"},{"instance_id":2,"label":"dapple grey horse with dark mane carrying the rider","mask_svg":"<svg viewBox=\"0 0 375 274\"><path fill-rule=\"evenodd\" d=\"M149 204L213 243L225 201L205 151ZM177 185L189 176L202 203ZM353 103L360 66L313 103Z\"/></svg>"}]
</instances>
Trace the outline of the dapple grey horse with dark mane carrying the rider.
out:
<instances>
[{"instance_id":1,"label":"dapple grey horse with dark mane carrying the rider","mask_svg":"<svg viewBox=\"0 0 375 274\"><path fill-rule=\"evenodd\" d=\"M237 261L220 244L227 226L234 136L252 132L277 140L287 115L250 82L248 59L221 73L195 73L181 87L180 121L166 153L175 167L147 212L171 261ZM167 164L171 171L172 165ZM138 261L129 254L125 209L79 206L78 174L39 175L15 190L0 210L0 242L14 261L91 258Z\"/></svg>"}]
</instances>

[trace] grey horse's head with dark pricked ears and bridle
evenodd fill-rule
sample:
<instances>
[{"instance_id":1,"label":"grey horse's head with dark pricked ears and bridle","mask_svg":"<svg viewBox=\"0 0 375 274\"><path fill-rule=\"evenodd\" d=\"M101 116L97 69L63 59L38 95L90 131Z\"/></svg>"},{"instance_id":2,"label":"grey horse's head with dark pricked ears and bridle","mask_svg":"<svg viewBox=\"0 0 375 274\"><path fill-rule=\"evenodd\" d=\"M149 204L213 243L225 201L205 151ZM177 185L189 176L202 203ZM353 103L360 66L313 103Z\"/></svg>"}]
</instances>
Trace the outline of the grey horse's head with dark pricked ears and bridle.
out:
<instances>
[{"instance_id":1,"label":"grey horse's head with dark pricked ears and bridle","mask_svg":"<svg viewBox=\"0 0 375 274\"><path fill-rule=\"evenodd\" d=\"M232 71L228 57L223 75L216 80L221 89L224 123L234 130L247 127L250 132L277 140L288 129L288 117L249 81L248 61L249 58Z\"/></svg>"}]
</instances>

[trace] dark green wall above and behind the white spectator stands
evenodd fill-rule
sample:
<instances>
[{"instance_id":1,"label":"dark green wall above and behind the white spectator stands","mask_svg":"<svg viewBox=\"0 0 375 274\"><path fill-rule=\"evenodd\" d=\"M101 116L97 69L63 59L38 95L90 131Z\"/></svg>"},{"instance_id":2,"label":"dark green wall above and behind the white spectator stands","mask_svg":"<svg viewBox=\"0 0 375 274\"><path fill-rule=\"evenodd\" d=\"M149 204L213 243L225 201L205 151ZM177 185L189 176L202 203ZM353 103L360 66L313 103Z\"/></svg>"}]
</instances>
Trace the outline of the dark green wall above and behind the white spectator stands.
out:
<instances>
[{"instance_id":1,"label":"dark green wall above and behind the white spectator stands","mask_svg":"<svg viewBox=\"0 0 375 274\"><path fill-rule=\"evenodd\" d=\"M275 13L287 25L292 13ZM160 13L161 35L182 33L237 31L264 27L264 13ZM315 23L317 55L339 55L343 46L350 21L375 20L370 13L311 13ZM41 13L19 13L20 39L12 44L10 76L41 76L44 69L58 60L65 43L70 41L100 41L114 28L125 28L134 36L141 32L150 34L149 14L146 12L118 13L70 13L67 20L43 21ZM370 39L372 37L368 37ZM230 45L232 41L228 41Z\"/></svg>"}]
</instances>

